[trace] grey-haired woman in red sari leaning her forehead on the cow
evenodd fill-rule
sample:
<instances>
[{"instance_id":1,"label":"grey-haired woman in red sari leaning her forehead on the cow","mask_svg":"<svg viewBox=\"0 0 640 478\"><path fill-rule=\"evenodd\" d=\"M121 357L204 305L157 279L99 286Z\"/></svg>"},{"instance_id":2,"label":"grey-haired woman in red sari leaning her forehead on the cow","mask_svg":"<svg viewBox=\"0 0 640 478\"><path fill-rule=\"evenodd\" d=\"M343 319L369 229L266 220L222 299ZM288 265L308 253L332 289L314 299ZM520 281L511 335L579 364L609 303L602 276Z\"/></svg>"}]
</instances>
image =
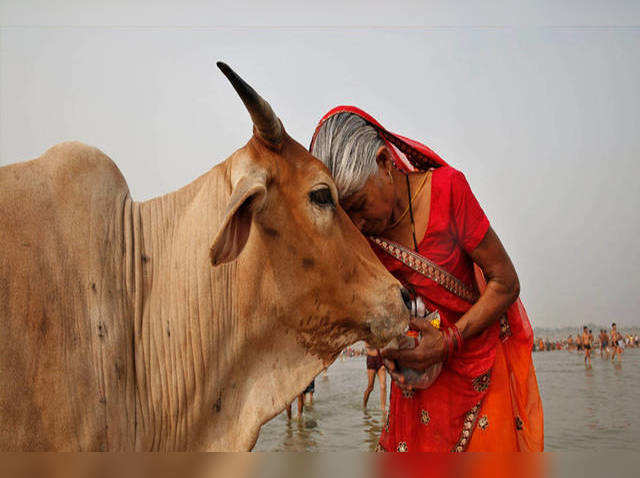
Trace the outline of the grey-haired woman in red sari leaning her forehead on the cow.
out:
<instances>
[{"instance_id":1,"label":"grey-haired woman in red sari leaning her forehead on the cow","mask_svg":"<svg viewBox=\"0 0 640 478\"><path fill-rule=\"evenodd\" d=\"M378 448L542 450L533 336L518 277L464 175L349 106L322 118L310 150L382 263L440 318L439 328L412 321L420 332L414 349L383 352L400 367L401 383L392 384ZM398 373L438 363L428 388L412 388Z\"/></svg>"}]
</instances>

